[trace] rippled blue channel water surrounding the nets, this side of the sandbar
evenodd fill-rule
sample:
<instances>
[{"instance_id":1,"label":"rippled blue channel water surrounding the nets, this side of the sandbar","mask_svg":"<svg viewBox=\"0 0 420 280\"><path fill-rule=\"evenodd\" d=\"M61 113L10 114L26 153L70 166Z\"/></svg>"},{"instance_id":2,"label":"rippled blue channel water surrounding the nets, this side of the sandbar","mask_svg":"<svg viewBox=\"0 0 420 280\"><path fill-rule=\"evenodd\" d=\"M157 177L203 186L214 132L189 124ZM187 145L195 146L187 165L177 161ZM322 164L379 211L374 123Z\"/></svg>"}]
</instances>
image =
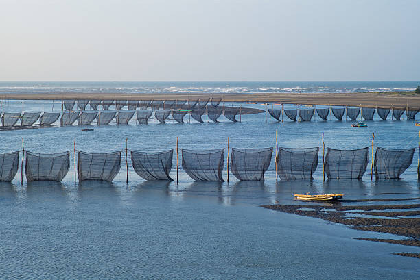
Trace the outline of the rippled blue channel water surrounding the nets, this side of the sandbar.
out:
<instances>
[{"instance_id":1,"label":"rippled blue channel water surrounding the nets, this side of the sandbar","mask_svg":"<svg viewBox=\"0 0 420 280\"><path fill-rule=\"evenodd\" d=\"M42 105L53 110L52 101L25 101L25 110ZM10 101L5 108L19 112L21 103ZM74 139L80 151L124 151L126 138L128 149L159 151L175 149L177 136L186 149L226 147L228 137L231 147L273 147L276 130L282 147L320 147L322 133L327 147L339 149L367 147L373 132L380 147L419 144L413 121L366 123L367 129L319 118L271 123L263 113L242 116L242 123L56 126L1 132L0 152L21 149L21 138L27 151L39 153L73 152ZM84 127L95 130L83 133ZM420 249L353 239L398 237L259 207L275 201L305 205L293 200L293 192L342 192L346 199L419 197L416 160L404 180L379 182L370 180L370 170L362 181L324 182L319 164L314 181L276 183L274 156L264 182L240 182L230 175L229 183L198 183L182 169L178 185L147 182L132 170L129 154L128 184L125 162L113 183L74 183L71 164L62 183L27 183L23 174L21 186L19 170L12 183L0 184L0 278L419 279L418 259L392 253Z\"/></svg>"}]
</instances>

